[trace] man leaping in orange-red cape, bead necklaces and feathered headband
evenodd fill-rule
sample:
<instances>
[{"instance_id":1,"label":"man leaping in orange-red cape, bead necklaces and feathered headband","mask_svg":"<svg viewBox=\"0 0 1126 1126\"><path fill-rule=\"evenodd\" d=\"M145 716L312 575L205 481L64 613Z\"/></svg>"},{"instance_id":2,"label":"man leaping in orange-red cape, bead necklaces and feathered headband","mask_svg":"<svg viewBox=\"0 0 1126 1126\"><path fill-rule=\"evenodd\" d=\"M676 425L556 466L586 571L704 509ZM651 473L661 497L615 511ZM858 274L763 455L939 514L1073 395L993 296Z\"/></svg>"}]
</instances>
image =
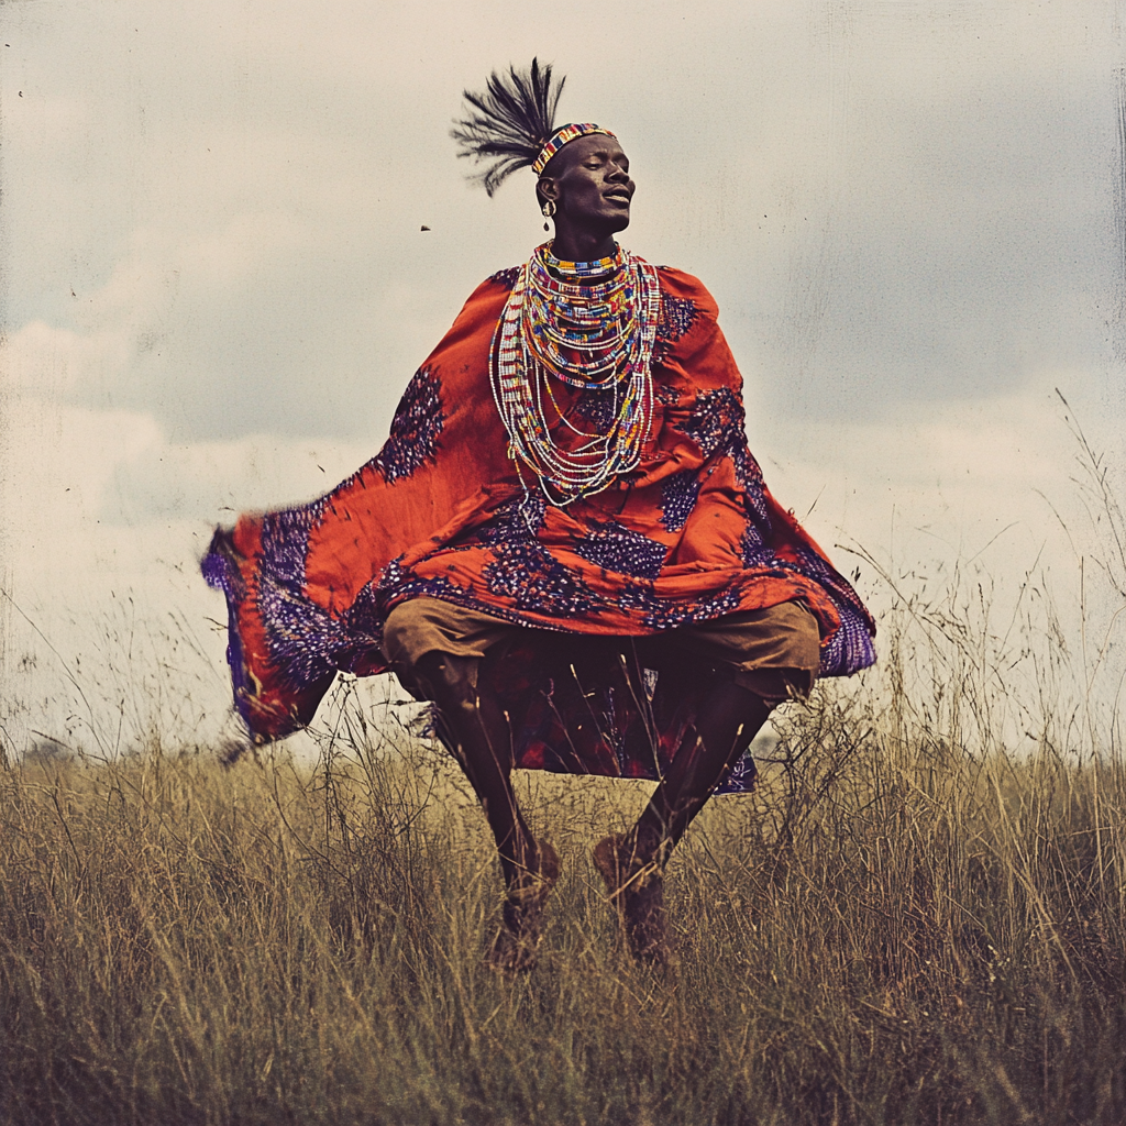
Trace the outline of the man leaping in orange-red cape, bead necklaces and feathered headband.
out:
<instances>
[{"instance_id":1,"label":"man leaping in orange-red cape, bead necklaces and feathered headband","mask_svg":"<svg viewBox=\"0 0 1126 1126\"><path fill-rule=\"evenodd\" d=\"M466 95L455 137L531 166L551 243L482 283L411 381L381 453L303 508L217 531L236 704L258 738L307 723L338 669L393 668L434 701L507 888L486 956L535 962L554 850L515 767L651 777L595 863L633 954L669 957L662 873L771 708L874 658L870 616L747 449L741 378L707 291L619 248L617 138L554 127L533 62ZM545 229L547 224L545 223Z\"/></svg>"}]
</instances>

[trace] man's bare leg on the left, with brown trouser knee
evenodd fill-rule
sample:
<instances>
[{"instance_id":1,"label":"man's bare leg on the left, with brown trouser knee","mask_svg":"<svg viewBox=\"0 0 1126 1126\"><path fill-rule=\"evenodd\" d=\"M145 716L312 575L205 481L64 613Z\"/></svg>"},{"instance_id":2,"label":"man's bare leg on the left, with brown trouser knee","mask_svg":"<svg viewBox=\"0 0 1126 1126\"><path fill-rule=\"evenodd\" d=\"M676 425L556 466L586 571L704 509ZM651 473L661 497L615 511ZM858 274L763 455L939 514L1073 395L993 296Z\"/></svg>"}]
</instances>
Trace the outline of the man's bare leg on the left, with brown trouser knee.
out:
<instances>
[{"instance_id":1,"label":"man's bare leg on the left, with brown trouser knee","mask_svg":"<svg viewBox=\"0 0 1126 1126\"><path fill-rule=\"evenodd\" d=\"M384 631L385 649L394 655L408 687L437 705L443 742L465 771L497 842L507 897L502 926L486 960L499 968L527 969L535 964L543 908L558 876L558 859L551 844L533 837L516 801L512 735L507 716L481 676L484 658L440 650L410 654L412 638L404 635L412 632L418 644L419 632L428 628L422 602L404 604L392 611ZM439 605L436 614L448 617L449 608ZM473 643L459 647L470 650Z\"/></svg>"}]
</instances>

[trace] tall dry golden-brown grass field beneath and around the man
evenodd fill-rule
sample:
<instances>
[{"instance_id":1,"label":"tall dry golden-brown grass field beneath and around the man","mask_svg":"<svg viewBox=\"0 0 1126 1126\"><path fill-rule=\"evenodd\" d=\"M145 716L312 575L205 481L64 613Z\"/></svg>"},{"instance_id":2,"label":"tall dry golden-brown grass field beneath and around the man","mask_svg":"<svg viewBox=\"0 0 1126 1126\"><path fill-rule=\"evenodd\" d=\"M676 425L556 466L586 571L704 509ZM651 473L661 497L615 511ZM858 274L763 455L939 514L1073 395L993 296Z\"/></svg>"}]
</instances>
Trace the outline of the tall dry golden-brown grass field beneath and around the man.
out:
<instances>
[{"instance_id":1,"label":"tall dry golden-brown grass field beneath and around the man","mask_svg":"<svg viewBox=\"0 0 1126 1126\"><path fill-rule=\"evenodd\" d=\"M1126 554L1100 573L1076 655L1034 575L994 625L980 575L885 570L881 665L792 707L674 855L671 978L588 859L643 785L520 778L563 875L509 980L464 783L347 699L307 769L9 757L0 1120L1121 1124Z\"/></svg>"}]
</instances>

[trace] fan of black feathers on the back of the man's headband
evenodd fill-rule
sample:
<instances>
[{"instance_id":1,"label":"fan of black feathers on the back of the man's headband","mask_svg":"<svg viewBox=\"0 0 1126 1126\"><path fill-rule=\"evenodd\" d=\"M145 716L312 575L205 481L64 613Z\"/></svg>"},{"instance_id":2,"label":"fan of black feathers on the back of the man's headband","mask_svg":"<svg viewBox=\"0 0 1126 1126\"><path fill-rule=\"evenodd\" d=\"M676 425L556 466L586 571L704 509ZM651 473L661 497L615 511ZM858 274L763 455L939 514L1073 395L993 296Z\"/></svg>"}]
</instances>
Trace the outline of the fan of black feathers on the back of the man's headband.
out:
<instances>
[{"instance_id":1,"label":"fan of black feathers on the back of the man's headband","mask_svg":"<svg viewBox=\"0 0 1126 1126\"><path fill-rule=\"evenodd\" d=\"M458 157L472 157L489 167L473 176L491 196L518 168L531 166L555 132L555 110L566 78L552 82L548 63L508 73L493 71L482 93L466 90L467 117L454 122L449 135L458 144Z\"/></svg>"}]
</instances>

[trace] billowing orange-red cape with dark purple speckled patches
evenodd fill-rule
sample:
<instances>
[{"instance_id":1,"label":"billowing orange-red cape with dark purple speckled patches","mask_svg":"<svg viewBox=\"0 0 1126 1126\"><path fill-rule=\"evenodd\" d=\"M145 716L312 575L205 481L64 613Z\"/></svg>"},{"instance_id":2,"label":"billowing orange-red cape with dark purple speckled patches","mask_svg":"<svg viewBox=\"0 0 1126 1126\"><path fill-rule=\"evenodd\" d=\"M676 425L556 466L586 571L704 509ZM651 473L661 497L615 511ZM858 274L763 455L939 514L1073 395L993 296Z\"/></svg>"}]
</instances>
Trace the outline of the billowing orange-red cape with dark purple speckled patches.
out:
<instances>
[{"instance_id":1,"label":"billowing orange-red cape with dark purple speckled patches","mask_svg":"<svg viewBox=\"0 0 1126 1126\"><path fill-rule=\"evenodd\" d=\"M470 296L363 468L312 503L216 531L203 570L226 595L235 705L256 736L310 723L338 670L385 671L383 623L419 596L553 631L561 643L796 599L820 626L821 676L875 660L872 616L763 483L747 445L742 379L696 278L658 270L654 418L637 471L565 508L547 502L526 467L521 476L489 378L516 274L495 274ZM611 392L560 394L579 429L613 417ZM613 668L589 672L586 690L569 696L558 661L534 649L498 674L510 714L524 717L518 765L653 777L676 753L695 714L687 688L676 721L654 732L636 688L614 683ZM593 734L577 744L569 721L595 697L598 722L584 725Z\"/></svg>"}]
</instances>

